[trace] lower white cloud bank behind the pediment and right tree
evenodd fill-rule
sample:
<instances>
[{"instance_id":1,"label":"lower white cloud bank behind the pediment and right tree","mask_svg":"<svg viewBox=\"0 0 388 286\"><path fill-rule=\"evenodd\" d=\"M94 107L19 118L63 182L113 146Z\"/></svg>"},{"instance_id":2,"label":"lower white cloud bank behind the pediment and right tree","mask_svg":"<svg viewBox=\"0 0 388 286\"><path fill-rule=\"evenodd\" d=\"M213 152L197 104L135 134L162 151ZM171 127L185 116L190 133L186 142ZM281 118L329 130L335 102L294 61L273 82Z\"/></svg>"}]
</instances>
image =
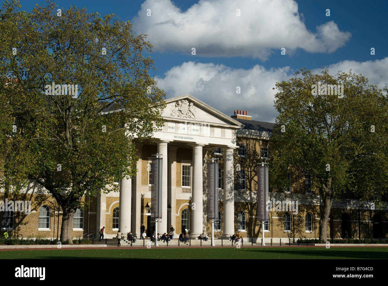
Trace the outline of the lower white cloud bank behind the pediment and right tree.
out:
<instances>
[{"instance_id":1,"label":"lower white cloud bank behind the pediment and right tree","mask_svg":"<svg viewBox=\"0 0 388 286\"><path fill-rule=\"evenodd\" d=\"M333 76L338 71L352 69L369 78L369 83L383 88L388 85L387 66L388 57L368 62L342 61L328 68ZM322 69L314 72L320 71ZM225 65L184 62L156 80L168 98L190 94L226 115L232 115L237 109L248 110L253 120L275 122L277 90L272 88L276 82L288 81L293 73L289 67L265 69L255 65L251 69L232 69ZM241 94L236 93L237 86L241 87Z\"/></svg>"}]
</instances>

